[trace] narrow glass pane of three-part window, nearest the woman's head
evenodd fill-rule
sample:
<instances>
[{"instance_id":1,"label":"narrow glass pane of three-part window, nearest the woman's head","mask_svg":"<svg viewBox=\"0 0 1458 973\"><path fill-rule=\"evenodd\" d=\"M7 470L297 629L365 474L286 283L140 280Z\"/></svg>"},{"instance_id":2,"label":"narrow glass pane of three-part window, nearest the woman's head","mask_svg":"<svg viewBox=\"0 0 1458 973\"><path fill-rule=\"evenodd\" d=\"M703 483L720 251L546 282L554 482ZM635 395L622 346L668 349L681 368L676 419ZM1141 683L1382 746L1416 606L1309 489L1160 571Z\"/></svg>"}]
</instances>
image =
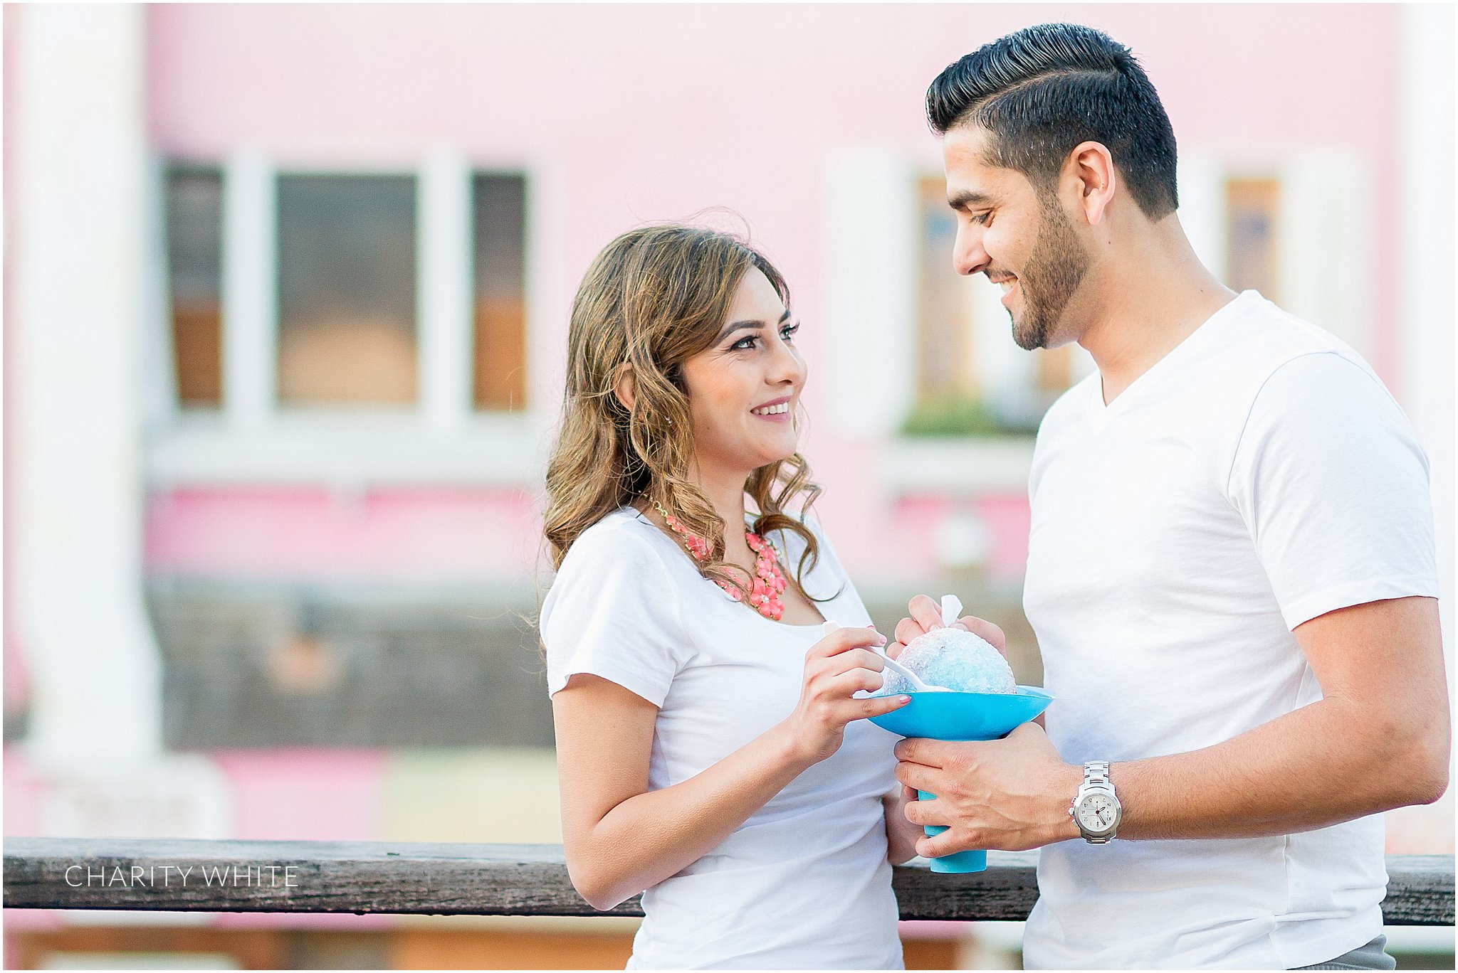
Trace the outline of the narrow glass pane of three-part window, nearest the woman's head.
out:
<instances>
[{"instance_id":1,"label":"narrow glass pane of three-part window, nearest the woman's head","mask_svg":"<svg viewBox=\"0 0 1458 973\"><path fill-rule=\"evenodd\" d=\"M478 175L475 408L526 406L526 179Z\"/></svg>"}]
</instances>

